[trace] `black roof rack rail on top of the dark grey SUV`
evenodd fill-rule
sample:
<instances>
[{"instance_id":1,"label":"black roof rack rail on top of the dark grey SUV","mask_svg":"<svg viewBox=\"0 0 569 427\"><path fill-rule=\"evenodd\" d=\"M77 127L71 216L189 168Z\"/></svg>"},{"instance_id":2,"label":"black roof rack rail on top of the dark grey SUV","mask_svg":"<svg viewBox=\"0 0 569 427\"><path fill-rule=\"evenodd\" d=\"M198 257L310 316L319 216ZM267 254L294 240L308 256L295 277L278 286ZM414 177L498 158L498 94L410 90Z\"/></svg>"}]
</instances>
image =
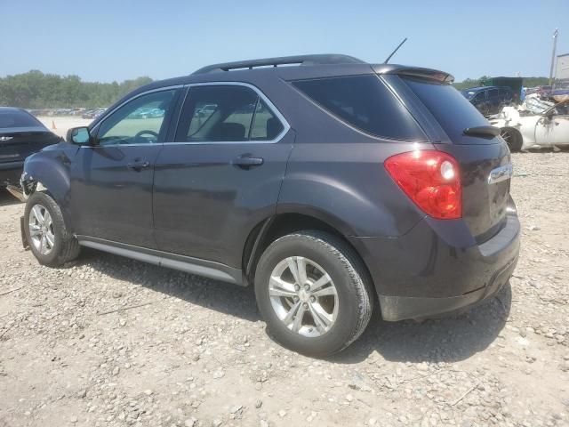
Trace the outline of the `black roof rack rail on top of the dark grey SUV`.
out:
<instances>
[{"instance_id":1,"label":"black roof rack rail on top of the dark grey SUV","mask_svg":"<svg viewBox=\"0 0 569 427\"><path fill-rule=\"evenodd\" d=\"M229 71L231 69L252 69L256 67L278 67L279 65L324 65L324 64L365 64L363 60L358 60L349 55L337 54L318 54L318 55L297 55L282 56L279 58L263 58L260 60L238 60L236 62L224 62L221 64L208 65L199 68L192 75L212 73L216 71Z\"/></svg>"}]
</instances>

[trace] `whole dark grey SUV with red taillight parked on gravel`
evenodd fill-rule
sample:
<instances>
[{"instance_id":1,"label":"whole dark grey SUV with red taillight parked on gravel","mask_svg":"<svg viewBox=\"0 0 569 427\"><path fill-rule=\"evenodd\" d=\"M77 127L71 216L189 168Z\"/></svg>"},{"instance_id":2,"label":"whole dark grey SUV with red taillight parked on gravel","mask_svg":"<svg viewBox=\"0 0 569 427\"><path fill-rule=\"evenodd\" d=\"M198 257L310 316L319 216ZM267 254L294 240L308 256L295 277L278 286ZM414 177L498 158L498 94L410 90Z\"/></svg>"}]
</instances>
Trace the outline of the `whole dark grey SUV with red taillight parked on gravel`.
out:
<instances>
[{"instance_id":1,"label":"whole dark grey SUV with red taillight parked on gravel","mask_svg":"<svg viewBox=\"0 0 569 427\"><path fill-rule=\"evenodd\" d=\"M509 280L520 227L509 149L452 81L309 55L145 85L28 158L23 232L48 266L88 246L254 285L309 355L356 340L374 301L387 320L469 307Z\"/></svg>"}]
</instances>

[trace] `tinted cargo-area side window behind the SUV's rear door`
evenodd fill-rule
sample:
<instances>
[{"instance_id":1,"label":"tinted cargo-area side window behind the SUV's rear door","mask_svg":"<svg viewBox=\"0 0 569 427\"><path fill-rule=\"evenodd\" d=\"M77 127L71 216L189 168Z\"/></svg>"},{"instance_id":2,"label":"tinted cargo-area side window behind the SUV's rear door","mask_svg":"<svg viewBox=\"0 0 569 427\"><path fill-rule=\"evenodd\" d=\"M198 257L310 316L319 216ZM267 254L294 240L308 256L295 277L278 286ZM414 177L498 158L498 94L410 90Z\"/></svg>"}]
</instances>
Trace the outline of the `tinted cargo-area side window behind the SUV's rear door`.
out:
<instances>
[{"instance_id":1,"label":"tinted cargo-area side window behind the SUV's rear door","mask_svg":"<svg viewBox=\"0 0 569 427\"><path fill-rule=\"evenodd\" d=\"M425 139L409 111L377 76L300 80L293 85L365 133L396 140Z\"/></svg>"}]
</instances>

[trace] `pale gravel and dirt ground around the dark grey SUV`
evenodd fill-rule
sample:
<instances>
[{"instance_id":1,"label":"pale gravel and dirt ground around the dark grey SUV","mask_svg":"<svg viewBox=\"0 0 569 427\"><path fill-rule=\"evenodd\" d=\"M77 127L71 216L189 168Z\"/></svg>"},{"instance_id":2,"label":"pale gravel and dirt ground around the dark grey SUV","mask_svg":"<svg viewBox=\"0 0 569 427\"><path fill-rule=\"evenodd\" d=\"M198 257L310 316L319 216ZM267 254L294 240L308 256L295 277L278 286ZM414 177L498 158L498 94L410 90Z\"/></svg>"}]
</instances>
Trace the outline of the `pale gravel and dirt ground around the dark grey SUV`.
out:
<instances>
[{"instance_id":1,"label":"pale gravel and dirt ground around the dark grey SUV","mask_svg":"<svg viewBox=\"0 0 569 427\"><path fill-rule=\"evenodd\" d=\"M466 315L373 318L331 359L271 341L252 289L95 251L61 270L0 196L0 426L569 425L569 153L514 156L511 286Z\"/></svg>"}]
</instances>

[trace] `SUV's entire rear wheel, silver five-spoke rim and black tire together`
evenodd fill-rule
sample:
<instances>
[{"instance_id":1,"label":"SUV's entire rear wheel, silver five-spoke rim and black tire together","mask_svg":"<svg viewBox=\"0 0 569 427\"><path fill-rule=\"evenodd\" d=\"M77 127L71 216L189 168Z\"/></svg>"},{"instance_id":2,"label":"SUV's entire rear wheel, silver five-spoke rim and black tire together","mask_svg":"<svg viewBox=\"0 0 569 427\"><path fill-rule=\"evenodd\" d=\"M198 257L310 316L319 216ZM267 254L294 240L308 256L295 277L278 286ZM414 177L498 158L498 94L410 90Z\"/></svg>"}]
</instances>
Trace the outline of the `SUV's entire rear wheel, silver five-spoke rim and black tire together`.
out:
<instances>
[{"instance_id":1,"label":"SUV's entire rear wheel, silver five-spoke rim and black tire together","mask_svg":"<svg viewBox=\"0 0 569 427\"><path fill-rule=\"evenodd\" d=\"M276 341L315 357L348 347L373 310L370 279L357 254L320 231L287 235L268 246L257 265L255 294Z\"/></svg>"}]
</instances>

